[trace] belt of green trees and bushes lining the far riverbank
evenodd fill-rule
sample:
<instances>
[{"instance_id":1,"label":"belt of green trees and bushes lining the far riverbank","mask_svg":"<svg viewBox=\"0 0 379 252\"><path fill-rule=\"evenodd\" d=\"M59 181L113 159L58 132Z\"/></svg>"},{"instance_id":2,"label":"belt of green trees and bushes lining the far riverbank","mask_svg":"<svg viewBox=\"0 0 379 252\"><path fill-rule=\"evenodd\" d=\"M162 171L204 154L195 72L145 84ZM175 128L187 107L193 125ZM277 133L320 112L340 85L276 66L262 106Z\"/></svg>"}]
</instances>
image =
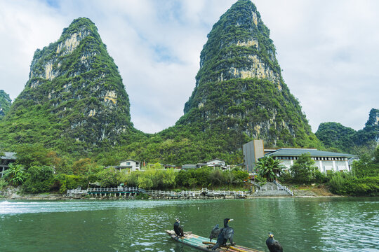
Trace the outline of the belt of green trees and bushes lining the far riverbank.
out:
<instances>
[{"instance_id":1,"label":"belt of green trees and bushes lining the far riverbank","mask_svg":"<svg viewBox=\"0 0 379 252\"><path fill-rule=\"evenodd\" d=\"M98 165L91 159L73 160L58 158L53 151L39 148L28 149L20 153L16 164L11 164L4 179L0 180L0 190L6 186L20 186L24 193L66 193L68 189L87 188L90 183L100 183L102 187L125 186L153 190L182 190L185 188L207 187L212 189L249 190L246 183L248 173L234 168L230 171L202 167L200 169L181 170L163 169L159 163L147 165L144 171L131 174ZM33 152L34 151L34 152ZM308 154L295 160L291 173L282 172L278 160L270 156L257 163L256 183L265 183L277 179L287 186L310 185L312 183L328 186L337 195L363 196L379 195L379 147L373 157L364 155L354 161L352 172L322 174Z\"/></svg>"}]
</instances>

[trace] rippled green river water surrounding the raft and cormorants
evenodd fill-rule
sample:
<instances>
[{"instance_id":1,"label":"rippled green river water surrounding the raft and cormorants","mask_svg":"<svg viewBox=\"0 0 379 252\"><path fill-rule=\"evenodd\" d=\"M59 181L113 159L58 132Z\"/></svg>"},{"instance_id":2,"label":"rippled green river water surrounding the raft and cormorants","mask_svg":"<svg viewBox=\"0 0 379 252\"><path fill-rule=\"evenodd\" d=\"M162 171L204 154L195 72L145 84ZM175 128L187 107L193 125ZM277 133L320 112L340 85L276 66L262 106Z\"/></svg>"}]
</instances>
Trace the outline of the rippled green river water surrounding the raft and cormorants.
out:
<instances>
[{"instance_id":1,"label":"rippled green river water surrounding the raft and cormorants","mask_svg":"<svg viewBox=\"0 0 379 252\"><path fill-rule=\"evenodd\" d=\"M164 232L209 236L233 218L237 244L268 251L379 251L379 197L252 200L0 201L0 251L197 251Z\"/></svg>"}]
</instances>

